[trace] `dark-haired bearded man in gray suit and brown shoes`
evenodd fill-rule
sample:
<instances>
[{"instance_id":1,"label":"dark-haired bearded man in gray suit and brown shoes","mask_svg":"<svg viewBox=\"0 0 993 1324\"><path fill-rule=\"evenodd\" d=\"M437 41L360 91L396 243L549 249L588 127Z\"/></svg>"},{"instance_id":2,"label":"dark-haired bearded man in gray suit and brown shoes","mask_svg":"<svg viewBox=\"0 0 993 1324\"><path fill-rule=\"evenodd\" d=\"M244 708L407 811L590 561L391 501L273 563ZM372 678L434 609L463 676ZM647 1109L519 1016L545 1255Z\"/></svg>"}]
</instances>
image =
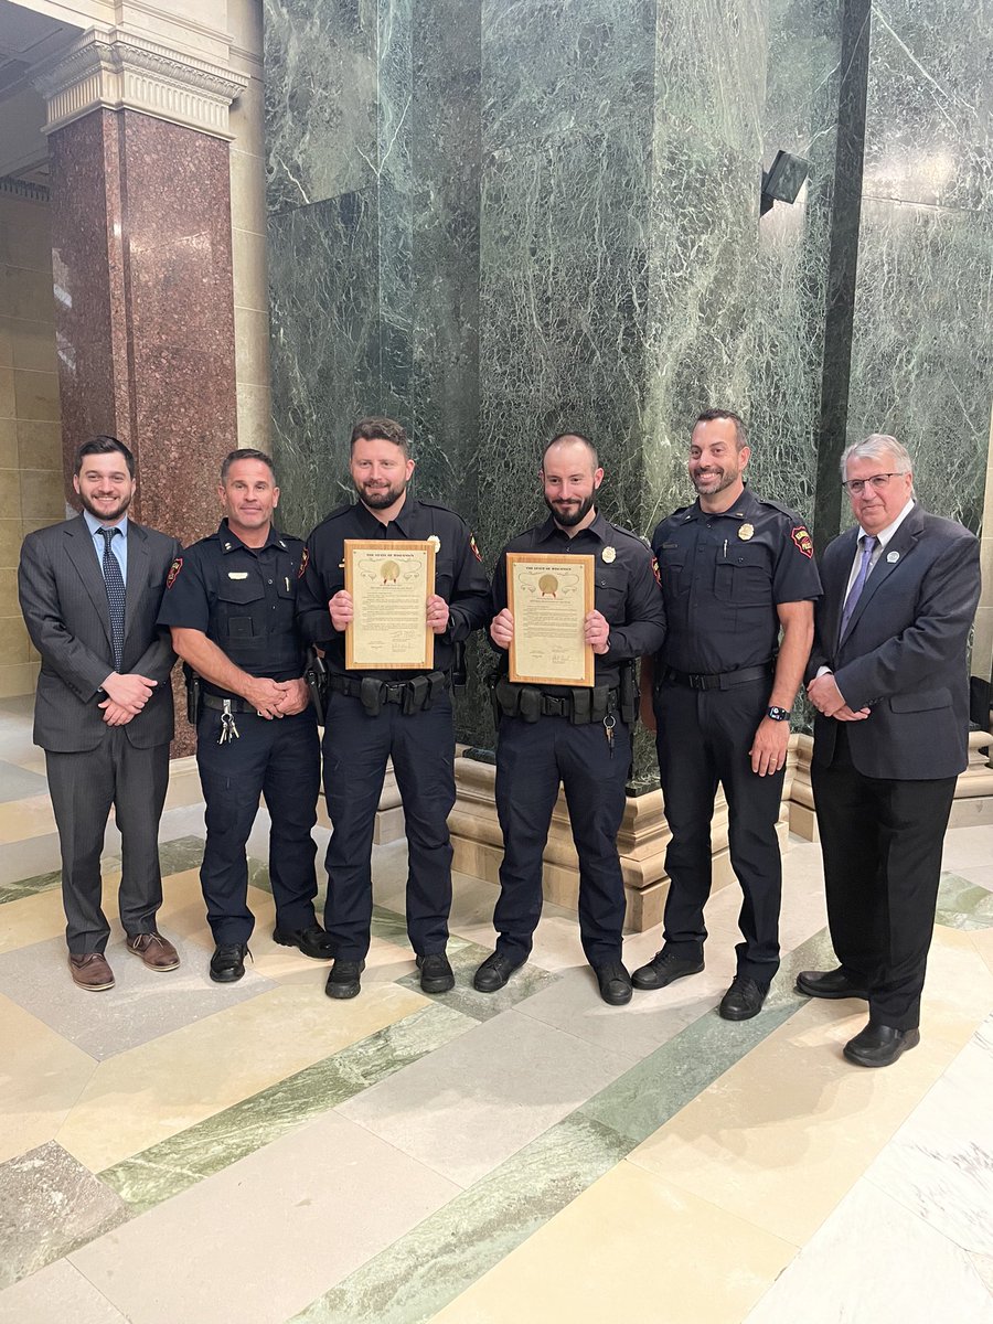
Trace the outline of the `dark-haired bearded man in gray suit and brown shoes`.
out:
<instances>
[{"instance_id":1,"label":"dark-haired bearded man in gray suit and brown shoes","mask_svg":"<svg viewBox=\"0 0 993 1324\"><path fill-rule=\"evenodd\" d=\"M122 838L127 949L154 970L179 965L155 925L176 661L169 632L155 622L180 545L127 519L135 461L115 437L79 448L73 486L83 514L28 535L17 584L41 654L34 744L45 751L62 851L69 969L79 988L95 992L114 985L101 907L111 805Z\"/></svg>"}]
</instances>

